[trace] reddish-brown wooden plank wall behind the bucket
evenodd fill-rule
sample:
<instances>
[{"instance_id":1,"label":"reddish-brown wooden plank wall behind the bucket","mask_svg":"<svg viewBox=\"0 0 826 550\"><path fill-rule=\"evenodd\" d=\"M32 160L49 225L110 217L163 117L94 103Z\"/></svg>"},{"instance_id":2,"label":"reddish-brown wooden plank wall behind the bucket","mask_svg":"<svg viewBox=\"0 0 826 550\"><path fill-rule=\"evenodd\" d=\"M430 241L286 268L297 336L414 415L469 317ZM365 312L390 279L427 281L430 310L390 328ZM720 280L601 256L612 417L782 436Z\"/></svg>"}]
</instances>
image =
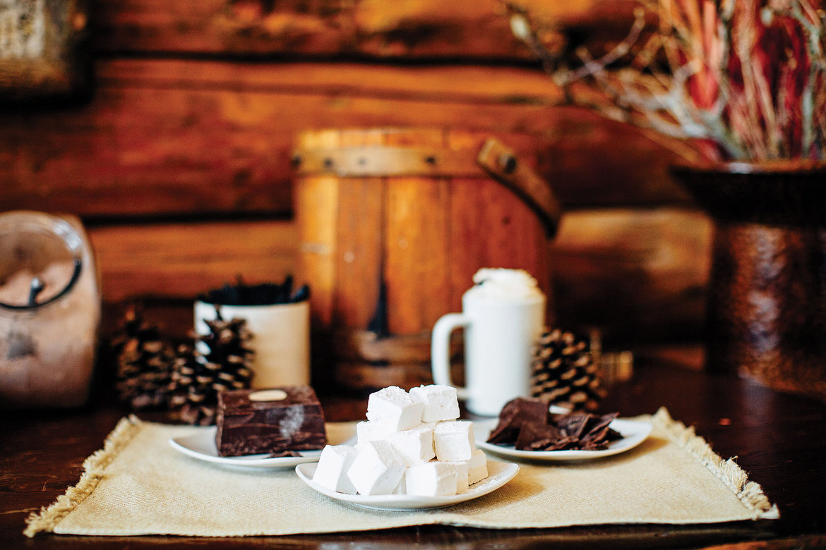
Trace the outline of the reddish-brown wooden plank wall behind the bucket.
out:
<instances>
[{"instance_id":1,"label":"reddish-brown wooden plank wall behind the bucket","mask_svg":"<svg viewBox=\"0 0 826 550\"><path fill-rule=\"evenodd\" d=\"M560 48L618 40L634 2L524 2ZM145 299L183 334L192 298L297 260L290 159L303 129L520 134L567 214L558 318L616 346L700 334L710 223L657 139L565 105L494 0L101 0L94 94L0 110L0 210L77 214L111 328Z\"/></svg>"}]
</instances>

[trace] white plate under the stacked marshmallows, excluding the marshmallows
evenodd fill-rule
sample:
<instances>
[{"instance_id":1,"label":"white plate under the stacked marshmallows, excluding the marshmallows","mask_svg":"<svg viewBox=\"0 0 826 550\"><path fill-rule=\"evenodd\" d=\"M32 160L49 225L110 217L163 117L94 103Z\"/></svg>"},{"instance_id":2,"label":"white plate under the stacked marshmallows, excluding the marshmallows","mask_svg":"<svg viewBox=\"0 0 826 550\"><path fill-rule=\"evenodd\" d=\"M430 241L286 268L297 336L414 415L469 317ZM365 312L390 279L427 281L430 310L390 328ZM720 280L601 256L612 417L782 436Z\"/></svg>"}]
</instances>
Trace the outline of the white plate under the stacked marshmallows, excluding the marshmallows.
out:
<instances>
[{"instance_id":1,"label":"white plate under the stacked marshmallows, excluding the marshmallows","mask_svg":"<svg viewBox=\"0 0 826 550\"><path fill-rule=\"evenodd\" d=\"M296 467L298 477L314 490L322 495L329 496L336 501L350 502L365 508L376 510L428 510L430 508L444 508L464 501L470 501L482 495L487 495L491 491L496 491L514 478L519 472L519 465L514 463L502 463L487 461L487 477L481 482L474 483L468 491L459 495L449 496L418 496L418 495L347 495L336 491L330 491L326 487L321 487L312 481L313 474L316 473L318 464L299 464Z\"/></svg>"}]
</instances>

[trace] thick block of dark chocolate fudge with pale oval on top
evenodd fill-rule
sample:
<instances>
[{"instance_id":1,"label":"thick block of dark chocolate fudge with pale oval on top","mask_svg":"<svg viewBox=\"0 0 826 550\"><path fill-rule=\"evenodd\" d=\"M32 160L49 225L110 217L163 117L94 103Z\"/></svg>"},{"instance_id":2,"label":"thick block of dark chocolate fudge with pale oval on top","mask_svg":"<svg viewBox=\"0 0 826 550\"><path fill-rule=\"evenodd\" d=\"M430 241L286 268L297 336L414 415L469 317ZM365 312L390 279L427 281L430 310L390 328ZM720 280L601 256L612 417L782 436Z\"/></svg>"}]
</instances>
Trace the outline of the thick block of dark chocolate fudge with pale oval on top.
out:
<instances>
[{"instance_id":1,"label":"thick block of dark chocolate fudge with pale oval on top","mask_svg":"<svg viewBox=\"0 0 826 550\"><path fill-rule=\"evenodd\" d=\"M218 394L216 447L221 456L323 449L324 411L309 386Z\"/></svg>"}]
</instances>

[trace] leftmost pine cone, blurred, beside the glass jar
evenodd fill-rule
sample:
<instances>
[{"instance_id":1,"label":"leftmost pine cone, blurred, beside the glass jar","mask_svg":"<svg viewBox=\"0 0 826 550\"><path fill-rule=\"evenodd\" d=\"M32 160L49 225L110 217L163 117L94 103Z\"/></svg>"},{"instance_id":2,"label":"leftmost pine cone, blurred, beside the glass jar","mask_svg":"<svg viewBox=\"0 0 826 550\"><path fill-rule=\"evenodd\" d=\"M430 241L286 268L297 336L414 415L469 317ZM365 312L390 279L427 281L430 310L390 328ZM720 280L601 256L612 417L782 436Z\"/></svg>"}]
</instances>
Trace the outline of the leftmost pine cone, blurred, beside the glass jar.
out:
<instances>
[{"instance_id":1,"label":"leftmost pine cone, blurred, beside the glass jar","mask_svg":"<svg viewBox=\"0 0 826 550\"><path fill-rule=\"evenodd\" d=\"M135 410L165 407L173 392L173 355L158 327L145 322L133 306L112 336L110 349L116 358L118 399Z\"/></svg>"}]
</instances>

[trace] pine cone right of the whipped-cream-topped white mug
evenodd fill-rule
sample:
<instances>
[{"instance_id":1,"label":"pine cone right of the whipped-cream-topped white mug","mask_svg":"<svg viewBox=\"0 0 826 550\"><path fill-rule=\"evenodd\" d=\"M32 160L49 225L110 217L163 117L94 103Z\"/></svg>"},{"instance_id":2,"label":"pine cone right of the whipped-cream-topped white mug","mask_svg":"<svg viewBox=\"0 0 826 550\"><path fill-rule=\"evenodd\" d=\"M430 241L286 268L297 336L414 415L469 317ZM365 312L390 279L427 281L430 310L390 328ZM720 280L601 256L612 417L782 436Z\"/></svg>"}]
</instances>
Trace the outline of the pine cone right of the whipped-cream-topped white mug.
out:
<instances>
[{"instance_id":1,"label":"pine cone right of the whipped-cream-topped white mug","mask_svg":"<svg viewBox=\"0 0 826 550\"><path fill-rule=\"evenodd\" d=\"M571 332L546 329L534 350L532 370L531 396L549 405L593 411L605 397L587 342Z\"/></svg>"}]
</instances>

